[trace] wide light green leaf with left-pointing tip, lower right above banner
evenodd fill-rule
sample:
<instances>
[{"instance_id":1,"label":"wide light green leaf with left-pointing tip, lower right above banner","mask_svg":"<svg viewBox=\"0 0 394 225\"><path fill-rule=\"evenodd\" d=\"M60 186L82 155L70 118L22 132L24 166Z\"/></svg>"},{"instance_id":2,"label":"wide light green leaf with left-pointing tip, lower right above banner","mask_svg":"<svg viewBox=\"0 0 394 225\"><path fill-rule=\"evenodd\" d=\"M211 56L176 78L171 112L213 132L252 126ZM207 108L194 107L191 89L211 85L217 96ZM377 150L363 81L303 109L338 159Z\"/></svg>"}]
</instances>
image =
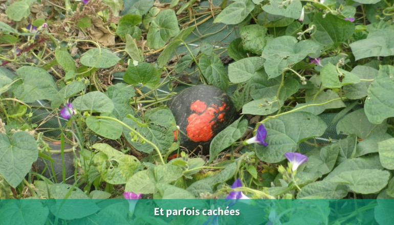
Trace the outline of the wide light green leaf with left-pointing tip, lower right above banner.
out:
<instances>
[{"instance_id":1,"label":"wide light green leaf with left-pointing tip, lower right above banner","mask_svg":"<svg viewBox=\"0 0 394 225\"><path fill-rule=\"evenodd\" d=\"M344 171L330 179L332 182L346 184L361 194L370 194L382 190L388 183L390 173L378 169L360 169Z\"/></svg>"}]
</instances>

